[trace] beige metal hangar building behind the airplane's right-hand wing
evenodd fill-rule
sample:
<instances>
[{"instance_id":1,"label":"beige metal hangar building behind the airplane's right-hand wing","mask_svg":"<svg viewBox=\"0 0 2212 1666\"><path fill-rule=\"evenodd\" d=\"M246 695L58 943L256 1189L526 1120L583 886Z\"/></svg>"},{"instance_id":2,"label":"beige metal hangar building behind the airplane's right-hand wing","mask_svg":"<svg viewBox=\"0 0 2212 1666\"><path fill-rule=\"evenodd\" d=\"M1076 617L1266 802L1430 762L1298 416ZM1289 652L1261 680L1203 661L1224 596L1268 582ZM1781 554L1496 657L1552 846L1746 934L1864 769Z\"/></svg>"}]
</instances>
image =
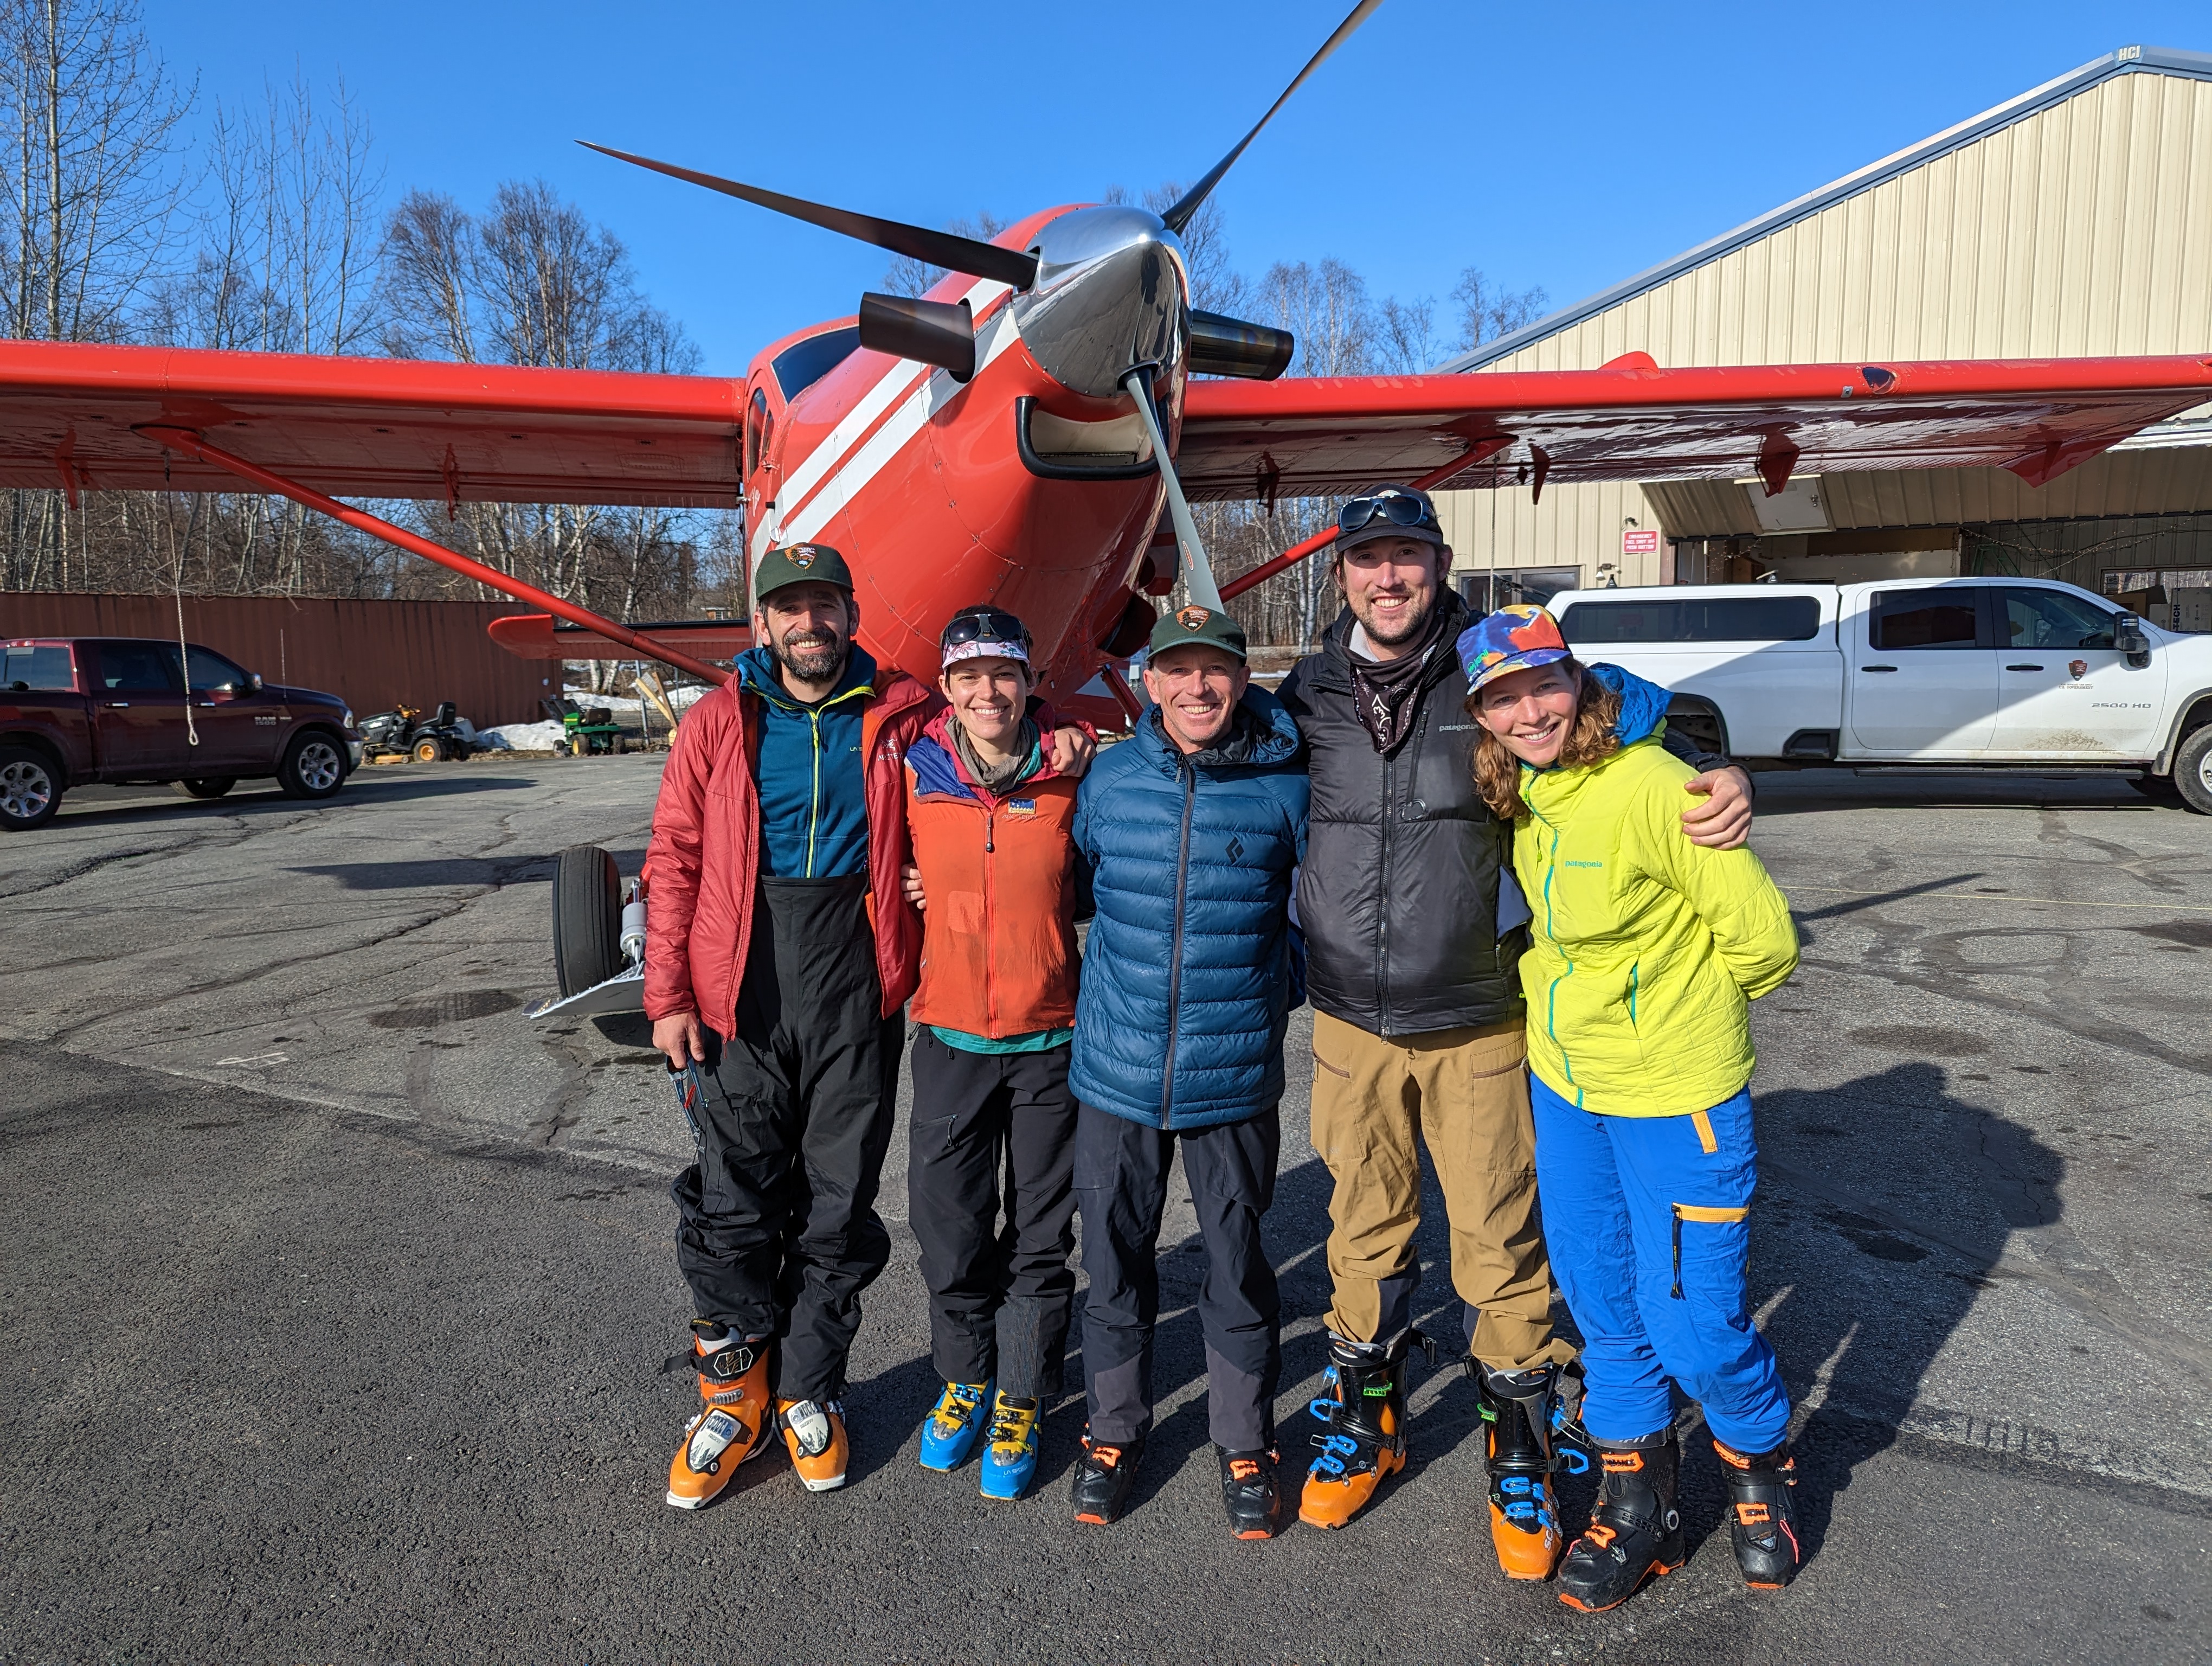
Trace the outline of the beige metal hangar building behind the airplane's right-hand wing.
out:
<instances>
[{"instance_id":1,"label":"beige metal hangar building behind the airplane's right-hand wing","mask_svg":"<svg viewBox=\"0 0 2212 1666\"><path fill-rule=\"evenodd\" d=\"M2212 354L2212 55L2121 46L1440 369ZM1444 493L1475 600L2022 573L2212 631L2212 405L2004 469ZM1495 502L1493 502L1495 500Z\"/></svg>"}]
</instances>

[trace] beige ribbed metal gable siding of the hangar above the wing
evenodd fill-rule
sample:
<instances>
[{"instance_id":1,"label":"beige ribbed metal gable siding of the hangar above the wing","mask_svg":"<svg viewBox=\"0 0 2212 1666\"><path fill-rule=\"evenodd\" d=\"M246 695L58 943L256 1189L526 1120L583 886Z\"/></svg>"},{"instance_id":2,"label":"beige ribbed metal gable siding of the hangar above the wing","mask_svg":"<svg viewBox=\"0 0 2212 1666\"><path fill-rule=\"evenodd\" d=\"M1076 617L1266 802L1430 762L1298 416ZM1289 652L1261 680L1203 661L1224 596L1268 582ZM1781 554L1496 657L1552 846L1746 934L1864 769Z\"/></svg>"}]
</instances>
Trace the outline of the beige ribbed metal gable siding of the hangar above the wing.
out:
<instances>
[{"instance_id":1,"label":"beige ribbed metal gable siding of the hangar above the wing","mask_svg":"<svg viewBox=\"0 0 2212 1666\"><path fill-rule=\"evenodd\" d=\"M2115 75L1486 369L2212 352L2212 82Z\"/></svg>"}]
</instances>

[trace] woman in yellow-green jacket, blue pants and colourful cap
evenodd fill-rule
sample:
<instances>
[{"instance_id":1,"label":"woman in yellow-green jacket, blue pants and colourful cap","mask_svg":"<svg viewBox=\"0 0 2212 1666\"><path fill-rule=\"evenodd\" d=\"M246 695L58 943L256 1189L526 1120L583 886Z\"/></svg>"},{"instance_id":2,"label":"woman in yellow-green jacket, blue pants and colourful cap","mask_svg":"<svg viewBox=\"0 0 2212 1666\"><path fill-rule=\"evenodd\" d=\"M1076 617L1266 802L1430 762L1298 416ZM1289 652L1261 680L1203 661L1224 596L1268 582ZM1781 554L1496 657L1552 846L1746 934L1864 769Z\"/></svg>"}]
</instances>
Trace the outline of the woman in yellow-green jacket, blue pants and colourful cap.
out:
<instances>
[{"instance_id":1,"label":"woman in yellow-green jacket, blue pants and colourful cap","mask_svg":"<svg viewBox=\"0 0 2212 1666\"><path fill-rule=\"evenodd\" d=\"M1670 1383L1728 1476L1745 1582L1798 1560L1790 1394L1752 1325L1747 1004L1796 969L1790 905L1750 850L1681 839L1690 770L1663 688L1575 662L1544 608L1460 637L1475 781L1513 821L1528 896L1528 1075L1544 1241L1582 1330L1582 1427L1604 1460L1559 1600L1613 1608L1683 1560ZM1548 1504L1548 1498L1542 1500Z\"/></svg>"}]
</instances>

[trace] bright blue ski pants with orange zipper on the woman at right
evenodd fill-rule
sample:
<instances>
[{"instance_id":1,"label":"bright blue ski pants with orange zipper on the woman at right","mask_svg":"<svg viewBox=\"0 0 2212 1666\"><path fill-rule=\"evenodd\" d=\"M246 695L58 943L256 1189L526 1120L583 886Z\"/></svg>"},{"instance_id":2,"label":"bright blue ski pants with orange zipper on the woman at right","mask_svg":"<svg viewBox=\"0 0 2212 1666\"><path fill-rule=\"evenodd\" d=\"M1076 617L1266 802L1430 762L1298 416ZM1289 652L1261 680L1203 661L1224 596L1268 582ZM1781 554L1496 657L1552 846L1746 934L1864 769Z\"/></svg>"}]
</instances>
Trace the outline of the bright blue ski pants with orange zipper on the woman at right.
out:
<instances>
[{"instance_id":1,"label":"bright blue ski pants with orange zipper on the woman at right","mask_svg":"<svg viewBox=\"0 0 2212 1666\"><path fill-rule=\"evenodd\" d=\"M1582 1330L1584 1427L1597 1440L1666 1429L1672 1378L1723 1445L1778 1447L1790 1389L1745 1292L1750 1089L1694 1115L1601 1117L1531 1075L1528 1102L1551 1272Z\"/></svg>"}]
</instances>

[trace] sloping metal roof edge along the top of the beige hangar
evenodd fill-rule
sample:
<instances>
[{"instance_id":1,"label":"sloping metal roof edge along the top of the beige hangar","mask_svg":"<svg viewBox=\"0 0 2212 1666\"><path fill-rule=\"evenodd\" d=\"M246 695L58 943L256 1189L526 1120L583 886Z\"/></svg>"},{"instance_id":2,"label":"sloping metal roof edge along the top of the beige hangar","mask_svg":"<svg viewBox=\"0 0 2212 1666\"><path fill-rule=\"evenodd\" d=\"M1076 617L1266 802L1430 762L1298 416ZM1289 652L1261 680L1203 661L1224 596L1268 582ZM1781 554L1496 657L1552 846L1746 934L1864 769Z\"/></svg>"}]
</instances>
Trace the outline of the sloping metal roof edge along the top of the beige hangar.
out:
<instances>
[{"instance_id":1,"label":"sloping metal roof edge along the top of the beige hangar","mask_svg":"<svg viewBox=\"0 0 2212 1666\"><path fill-rule=\"evenodd\" d=\"M1962 150L2002 128L2017 126L2119 75L2143 75L2143 73L2212 82L2212 53L2190 53L2166 46L2121 46L2115 53L2106 53L2104 58L2081 64L2079 69L2068 71L2066 75L2044 82L2042 86L2031 88L2015 100L1997 104L1991 111L1982 111L1980 115L1966 117L1958 126L1944 128L1942 133L1922 139L1920 144L1907 146L1905 150L1882 157L1880 162L1871 162L1865 168L1858 168L1856 173L1836 179L1834 184L1820 186L1818 190L1812 190L1794 201L1787 201L1781 208L1761 215L1759 219L1745 221L1743 226L1736 226L1730 232L1721 232L1719 237L1708 239L1705 243L1699 243L1697 248L1690 248L1670 261L1661 261L1659 265L1652 265L1646 272L1637 272L1632 279L1615 283L1610 290L1601 290L1584 301L1577 301L1575 305L1562 308L1559 312L1537 319L1535 323L1524 325L1522 330L1515 330L1506 336L1486 341L1473 352L1447 361L1438 369L1462 372L1462 369L1484 369L1489 365L1498 365L1500 361L1511 358L1542 341L1559 336L1562 332L1573 330L1575 325L1595 319L1597 314L1610 312L1626 301L1635 301L1637 296L1666 285L1683 277L1686 272L1694 272L1701 265L1721 261L1723 257L1745 248L1747 243L1756 243L1787 226L1812 219L1814 215L1820 215L1823 210L1834 208L1836 204L1843 204L1851 197L1871 192L1878 186L1896 179L1898 175L1911 173L1916 168L1927 166L1929 162L1936 162L1938 157ZM1668 358L1670 358L1668 354L1661 354L1663 363ZM1535 367L1535 365L1524 365L1524 367Z\"/></svg>"}]
</instances>

